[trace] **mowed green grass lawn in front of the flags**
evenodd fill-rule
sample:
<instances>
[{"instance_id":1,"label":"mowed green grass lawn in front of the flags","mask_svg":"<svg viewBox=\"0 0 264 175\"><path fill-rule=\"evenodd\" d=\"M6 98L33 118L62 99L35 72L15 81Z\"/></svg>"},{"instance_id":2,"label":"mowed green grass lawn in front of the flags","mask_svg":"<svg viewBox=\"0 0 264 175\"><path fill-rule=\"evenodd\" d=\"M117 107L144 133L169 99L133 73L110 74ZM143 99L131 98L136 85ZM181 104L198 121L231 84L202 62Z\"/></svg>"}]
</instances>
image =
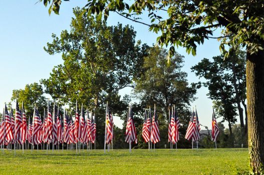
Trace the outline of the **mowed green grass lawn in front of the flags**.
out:
<instances>
[{"instance_id":1,"label":"mowed green grass lawn in front of the flags","mask_svg":"<svg viewBox=\"0 0 264 175\"><path fill-rule=\"evenodd\" d=\"M233 174L247 165L247 148L0 151L0 174Z\"/></svg>"}]
</instances>

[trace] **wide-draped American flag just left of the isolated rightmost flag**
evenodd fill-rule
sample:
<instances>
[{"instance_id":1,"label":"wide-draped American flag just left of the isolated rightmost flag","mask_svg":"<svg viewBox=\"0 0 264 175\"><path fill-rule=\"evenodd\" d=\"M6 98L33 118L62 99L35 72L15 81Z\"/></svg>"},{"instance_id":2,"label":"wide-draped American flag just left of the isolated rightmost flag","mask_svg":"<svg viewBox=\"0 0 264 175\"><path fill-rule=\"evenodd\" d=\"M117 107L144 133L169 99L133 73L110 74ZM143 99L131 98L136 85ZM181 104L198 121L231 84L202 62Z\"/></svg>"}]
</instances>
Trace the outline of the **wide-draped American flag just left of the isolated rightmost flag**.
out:
<instances>
[{"instance_id":1,"label":"wide-draped American flag just left of the isolated rightmost flag","mask_svg":"<svg viewBox=\"0 0 264 175\"><path fill-rule=\"evenodd\" d=\"M196 141L198 139L197 137L197 125L196 125L196 117L195 117L196 113L194 111L192 111L192 116L186 131L186 135L185 138L187 140L193 139L193 141Z\"/></svg>"}]
</instances>

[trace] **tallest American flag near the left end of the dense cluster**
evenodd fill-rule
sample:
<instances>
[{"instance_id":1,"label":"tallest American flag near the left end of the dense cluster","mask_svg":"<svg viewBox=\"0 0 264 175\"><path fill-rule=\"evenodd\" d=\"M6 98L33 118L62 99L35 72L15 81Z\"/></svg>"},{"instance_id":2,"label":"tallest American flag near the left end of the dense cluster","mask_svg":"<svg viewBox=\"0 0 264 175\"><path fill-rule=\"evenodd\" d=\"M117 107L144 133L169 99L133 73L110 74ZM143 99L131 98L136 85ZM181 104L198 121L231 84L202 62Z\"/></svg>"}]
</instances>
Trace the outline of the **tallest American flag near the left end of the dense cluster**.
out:
<instances>
[{"instance_id":1,"label":"tallest American flag near the left end of the dense cluster","mask_svg":"<svg viewBox=\"0 0 264 175\"><path fill-rule=\"evenodd\" d=\"M17 101L17 104L16 104L16 141L19 143L19 144L22 144L23 141L22 141L22 133L23 133L23 121L22 121L22 116L21 116L21 111L20 111L20 108L19 108L19 103Z\"/></svg>"}]
</instances>

